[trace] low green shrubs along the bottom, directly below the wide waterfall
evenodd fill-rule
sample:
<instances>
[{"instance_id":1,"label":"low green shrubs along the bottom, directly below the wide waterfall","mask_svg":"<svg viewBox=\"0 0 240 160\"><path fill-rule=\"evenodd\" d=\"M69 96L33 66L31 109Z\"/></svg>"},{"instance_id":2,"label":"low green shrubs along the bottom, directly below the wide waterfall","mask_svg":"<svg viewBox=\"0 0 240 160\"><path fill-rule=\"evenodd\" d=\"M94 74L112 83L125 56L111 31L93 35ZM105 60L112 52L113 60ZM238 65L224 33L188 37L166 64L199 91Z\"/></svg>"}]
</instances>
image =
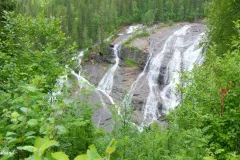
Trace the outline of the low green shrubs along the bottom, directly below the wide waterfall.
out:
<instances>
[{"instance_id":1,"label":"low green shrubs along the bottom, directly below the wide waterfall","mask_svg":"<svg viewBox=\"0 0 240 160\"><path fill-rule=\"evenodd\" d=\"M172 125L162 130L157 124L153 124L144 128L143 132L139 132L128 118L124 120L123 117L116 122L116 125L112 133L103 138L104 140L116 138L117 149L111 156L116 160L202 160L207 154L205 147L208 141L200 129L181 131L180 128ZM100 141L102 142L103 139Z\"/></svg>"}]
</instances>

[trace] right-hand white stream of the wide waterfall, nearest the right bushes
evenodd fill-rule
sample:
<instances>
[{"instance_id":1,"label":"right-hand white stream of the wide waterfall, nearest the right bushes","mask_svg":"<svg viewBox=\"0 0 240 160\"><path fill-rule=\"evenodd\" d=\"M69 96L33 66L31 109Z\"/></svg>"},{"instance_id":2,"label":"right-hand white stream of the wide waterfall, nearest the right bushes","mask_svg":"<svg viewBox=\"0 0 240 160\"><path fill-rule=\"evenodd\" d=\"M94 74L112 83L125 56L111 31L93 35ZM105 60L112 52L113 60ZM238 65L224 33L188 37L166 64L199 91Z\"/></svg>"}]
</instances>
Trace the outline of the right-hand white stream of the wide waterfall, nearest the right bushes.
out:
<instances>
[{"instance_id":1,"label":"right-hand white stream of the wide waterfall, nearest the right bushes","mask_svg":"<svg viewBox=\"0 0 240 160\"><path fill-rule=\"evenodd\" d=\"M195 64L202 64L203 57L201 56L202 48L199 48L199 42L202 39L203 34L198 35L195 41L187 48L182 56L176 55L169 63L170 82L167 84L160 95L163 101L163 108L166 110L163 113L167 113L169 110L174 109L180 103L180 97L176 94L176 84L180 83L180 74L177 71L190 71Z\"/></svg>"}]
</instances>

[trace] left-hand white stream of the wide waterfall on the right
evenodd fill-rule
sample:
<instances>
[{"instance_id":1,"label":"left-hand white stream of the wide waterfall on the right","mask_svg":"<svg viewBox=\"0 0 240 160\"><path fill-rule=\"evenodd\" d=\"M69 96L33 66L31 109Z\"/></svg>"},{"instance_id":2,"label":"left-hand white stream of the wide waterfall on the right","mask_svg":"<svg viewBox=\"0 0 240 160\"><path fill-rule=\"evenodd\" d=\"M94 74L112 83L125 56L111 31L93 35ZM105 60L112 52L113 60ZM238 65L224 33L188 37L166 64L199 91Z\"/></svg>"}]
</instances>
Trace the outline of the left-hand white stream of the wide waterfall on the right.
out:
<instances>
[{"instance_id":1,"label":"left-hand white stream of the wide waterfall on the right","mask_svg":"<svg viewBox=\"0 0 240 160\"><path fill-rule=\"evenodd\" d=\"M158 117L160 116L160 113L158 112L158 108L157 108L159 105L159 102L161 101L159 79L160 79L160 85L161 83L167 80L166 78L167 76L164 76L165 74L164 72L168 70L167 67L169 66L167 65L163 66L162 61L163 60L166 61L164 57L171 59L171 56L172 56L173 57L172 60L175 61L174 67L176 69L180 68L180 64L178 63L180 61L180 53L181 53L179 51L179 47L181 47L183 44L184 39L182 38L182 36L184 36L187 33L187 30L189 28L190 26L187 25L182 27L180 30L174 32L173 35L171 35L167 39L166 43L163 46L162 51L156 54L151 59L149 70L147 73L150 93L146 101L146 105L144 109L144 117L143 117L144 120L148 120L150 123L157 120ZM164 78L162 78L161 76L164 76ZM177 78L177 77L172 77L172 78Z\"/></svg>"}]
</instances>

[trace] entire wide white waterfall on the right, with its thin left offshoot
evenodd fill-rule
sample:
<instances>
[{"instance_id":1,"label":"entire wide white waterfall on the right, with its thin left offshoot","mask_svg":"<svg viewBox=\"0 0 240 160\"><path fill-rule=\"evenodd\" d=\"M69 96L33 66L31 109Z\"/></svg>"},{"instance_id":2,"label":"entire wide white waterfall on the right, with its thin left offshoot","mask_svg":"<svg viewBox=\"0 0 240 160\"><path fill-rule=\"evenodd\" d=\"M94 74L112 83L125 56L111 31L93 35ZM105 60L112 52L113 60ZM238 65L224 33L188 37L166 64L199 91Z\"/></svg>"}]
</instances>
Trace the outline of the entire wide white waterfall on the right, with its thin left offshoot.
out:
<instances>
[{"instance_id":1,"label":"entire wide white waterfall on the right, with its thin left offshoot","mask_svg":"<svg viewBox=\"0 0 240 160\"><path fill-rule=\"evenodd\" d=\"M165 42L162 51L150 56L144 71L131 85L127 94L130 101L137 84L144 75L147 75L150 92L144 107L141 126L152 123L162 113L167 113L169 109L175 108L179 104L180 99L175 90L176 84L180 83L178 71L181 71L183 65L186 67L185 70L191 70L197 60L196 57L201 57L201 48L198 48L201 36L199 35L195 41L191 39L185 41L184 39L190 27L190 25L186 25L174 32ZM161 84L159 84L159 74L163 74ZM123 102L126 103L125 100ZM163 111L159 113L158 107L161 104Z\"/></svg>"}]
</instances>

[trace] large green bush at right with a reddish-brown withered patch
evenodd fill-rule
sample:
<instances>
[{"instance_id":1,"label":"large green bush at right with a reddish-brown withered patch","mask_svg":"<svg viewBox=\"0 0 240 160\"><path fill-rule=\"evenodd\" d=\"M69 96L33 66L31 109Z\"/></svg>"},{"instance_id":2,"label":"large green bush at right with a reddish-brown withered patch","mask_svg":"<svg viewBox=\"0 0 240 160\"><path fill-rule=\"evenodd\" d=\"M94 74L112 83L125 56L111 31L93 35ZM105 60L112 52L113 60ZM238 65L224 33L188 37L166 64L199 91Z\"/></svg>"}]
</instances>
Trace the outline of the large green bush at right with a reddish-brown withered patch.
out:
<instances>
[{"instance_id":1,"label":"large green bush at right with a reddish-brown withered patch","mask_svg":"<svg viewBox=\"0 0 240 160\"><path fill-rule=\"evenodd\" d=\"M239 22L236 29L240 30ZM235 36L232 46L239 46L239 38ZM170 122L182 130L201 129L208 137L208 154L226 159L232 152L235 157L240 153L240 48L232 47L222 57L216 55L216 48L208 51L203 66L185 75L188 86L181 88L183 100L170 114Z\"/></svg>"}]
</instances>

